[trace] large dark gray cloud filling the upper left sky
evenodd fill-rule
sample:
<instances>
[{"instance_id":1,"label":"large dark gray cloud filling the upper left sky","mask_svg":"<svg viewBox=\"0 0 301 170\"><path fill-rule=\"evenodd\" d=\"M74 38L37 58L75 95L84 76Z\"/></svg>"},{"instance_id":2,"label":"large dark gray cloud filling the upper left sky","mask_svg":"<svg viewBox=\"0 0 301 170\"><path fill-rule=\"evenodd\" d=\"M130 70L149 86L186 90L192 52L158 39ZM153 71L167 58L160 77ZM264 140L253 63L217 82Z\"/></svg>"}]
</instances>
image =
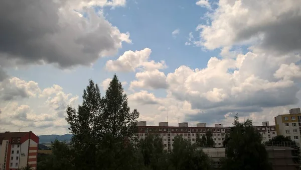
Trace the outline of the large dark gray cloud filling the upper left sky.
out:
<instances>
[{"instance_id":1,"label":"large dark gray cloud filling the upper left sky","mask_svg":"<svg viewBox=\"0 0 301 170\"><path fill-rule=\"evenodd\" d=\"M76 3L75 1L74 3ZM72 9L72 1L0 1L0 62L89 65L112 55L128 37L85 9L89 21ZM60 9L60 10L59 10Z\"/></svg>"}]
</instances>

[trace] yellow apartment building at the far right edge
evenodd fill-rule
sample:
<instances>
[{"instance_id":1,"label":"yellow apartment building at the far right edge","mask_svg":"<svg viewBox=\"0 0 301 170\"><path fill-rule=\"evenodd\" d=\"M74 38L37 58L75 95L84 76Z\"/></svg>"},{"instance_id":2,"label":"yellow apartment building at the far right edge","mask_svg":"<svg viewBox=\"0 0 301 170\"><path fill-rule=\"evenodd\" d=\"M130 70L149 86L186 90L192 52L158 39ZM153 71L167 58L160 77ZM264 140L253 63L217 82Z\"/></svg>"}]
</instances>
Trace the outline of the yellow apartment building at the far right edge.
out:
<instances>
[{"instance_id":1,"label":"yellow apartment building at the far right edge","mask_svg":"<svg viewBox=\"0 0 301 170\"><path fill-rule=\"evenodd\" d=\"M277 134L289 137L298 145L301 142L301 111L300 108L289 110L289 114L278 115L275 117Z\"/></svg>"}]
</instances>

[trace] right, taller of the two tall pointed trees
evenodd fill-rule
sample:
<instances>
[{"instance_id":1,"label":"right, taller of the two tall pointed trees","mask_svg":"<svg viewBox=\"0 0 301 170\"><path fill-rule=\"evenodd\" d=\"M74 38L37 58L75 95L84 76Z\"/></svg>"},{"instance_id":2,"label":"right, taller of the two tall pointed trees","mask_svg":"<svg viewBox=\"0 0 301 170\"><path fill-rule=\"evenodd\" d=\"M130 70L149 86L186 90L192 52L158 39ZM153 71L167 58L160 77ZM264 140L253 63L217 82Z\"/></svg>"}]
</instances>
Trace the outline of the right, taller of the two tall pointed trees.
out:
<instances>
[{"instance_id":1,"label":"right, taller of the two tall pointed trees","mask_svg":"<svg viewBox=\"0 0 301 170\"><path fill-rule=\"evenodd\" d=\"M136 109L130 112L127 96L123 93L121 82L114 75L105 97L102 98L103 114L100 124L104 130L101 141L101 153L98 165L101 169L134 169L136 168L135 149L137 143Z\"/></svg>"}]
</instances>

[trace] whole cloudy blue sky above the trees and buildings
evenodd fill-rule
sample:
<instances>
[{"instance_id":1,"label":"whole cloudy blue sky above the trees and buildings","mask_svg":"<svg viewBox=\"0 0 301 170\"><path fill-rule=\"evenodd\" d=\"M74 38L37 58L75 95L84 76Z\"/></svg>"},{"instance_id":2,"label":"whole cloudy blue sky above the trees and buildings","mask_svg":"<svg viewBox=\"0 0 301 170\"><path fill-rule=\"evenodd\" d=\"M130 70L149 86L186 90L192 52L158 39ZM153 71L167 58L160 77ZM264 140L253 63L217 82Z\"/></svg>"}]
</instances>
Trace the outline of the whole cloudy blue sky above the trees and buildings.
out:
<instances>
[{"instance_id":1,"label":"whole cloudy blue sky above the trees and buildings","mask_svg":"<svg viewBox=\"0 0 301 170\"><path fill-rule=\"evenodd\" d=\"M0 2L0 131L68 133L116 73L138 121L274 123L301 106L301 1Z\"/></svg>"}]
</instances>

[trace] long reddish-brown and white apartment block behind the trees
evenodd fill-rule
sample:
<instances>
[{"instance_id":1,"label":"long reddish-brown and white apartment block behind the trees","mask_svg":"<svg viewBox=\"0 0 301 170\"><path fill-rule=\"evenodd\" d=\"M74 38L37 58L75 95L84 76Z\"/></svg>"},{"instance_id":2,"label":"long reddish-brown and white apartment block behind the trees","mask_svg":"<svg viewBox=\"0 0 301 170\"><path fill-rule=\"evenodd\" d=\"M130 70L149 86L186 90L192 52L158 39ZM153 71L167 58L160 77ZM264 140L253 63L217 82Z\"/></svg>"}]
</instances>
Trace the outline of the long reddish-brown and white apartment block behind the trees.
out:
<instances>
[{"instance_id":1,"label":"long reddish-brown and white apartment block behind the trees","mask_svg":"<svg viewBox=\"0 0 301 170\"><path fill-rule=\"evenodd\" d=\"M188 122L179 123L179 126L169 126L168 122L160 122L159 126L147 126L146 121L140 121L137 124L139 139L144 139L148 133L157 133L163 139L163 144L168 152L173 149L174 138L178 135L191 143L196 142L197 134L202 137L206 131L211 131L213 134L214 146L223 147L226 133L230 132L231 127L223 127L223 124L215 124L214 127L207 127L206 123L198 123L195 127L189 127ZM262 122L262 126L254 126L263 136L263 142L272 139L276 136L275 126L270 126L269 122Z\"/></svg>"}]
</instances>

